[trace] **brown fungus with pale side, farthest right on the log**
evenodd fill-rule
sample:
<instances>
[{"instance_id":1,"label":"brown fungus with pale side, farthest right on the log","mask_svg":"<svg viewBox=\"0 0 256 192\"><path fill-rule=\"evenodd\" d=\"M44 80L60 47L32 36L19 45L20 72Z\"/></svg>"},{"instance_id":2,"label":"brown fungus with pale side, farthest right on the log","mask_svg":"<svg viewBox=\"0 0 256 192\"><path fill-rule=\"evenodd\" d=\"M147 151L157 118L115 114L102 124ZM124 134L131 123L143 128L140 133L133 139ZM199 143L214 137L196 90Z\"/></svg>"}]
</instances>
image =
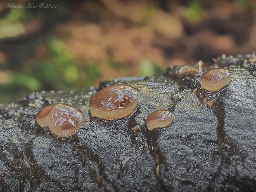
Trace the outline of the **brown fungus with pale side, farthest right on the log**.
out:
<instances>
[{"instance_id":1,"label":"brown fungus with pale side, farthest right on the log","mask_svg":"<svg viewBox=\"0 0 256 192\"><path fill-rule=\"evenodd\" d=\"M231 75L228 69L215 68L206 71L200 77L201 87L210 92L217 92L230 83Z\"/></svg>"}]
</instances>

